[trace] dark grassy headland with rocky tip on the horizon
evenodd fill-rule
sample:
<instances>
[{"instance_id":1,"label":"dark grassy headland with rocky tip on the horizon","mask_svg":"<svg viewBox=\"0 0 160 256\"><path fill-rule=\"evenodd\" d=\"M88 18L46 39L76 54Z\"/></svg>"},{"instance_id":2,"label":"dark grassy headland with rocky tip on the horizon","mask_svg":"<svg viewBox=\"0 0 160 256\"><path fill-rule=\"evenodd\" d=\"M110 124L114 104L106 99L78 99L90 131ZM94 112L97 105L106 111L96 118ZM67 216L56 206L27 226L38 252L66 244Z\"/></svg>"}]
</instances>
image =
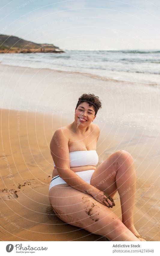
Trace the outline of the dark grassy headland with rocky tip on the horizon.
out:
<instances>
[{"instance_id":1,"label":"dark grassy headland with rocky tip on the horizon","mask_svg":"<svg viewBox=\"0 0 160 256\"><path fill-rule=\"evenodd\" d=\"M0 53L34 53L34 52L64 52L59 47L48 43L34 43L17 36L0 35Z\"/></svg>"}]
</instances>

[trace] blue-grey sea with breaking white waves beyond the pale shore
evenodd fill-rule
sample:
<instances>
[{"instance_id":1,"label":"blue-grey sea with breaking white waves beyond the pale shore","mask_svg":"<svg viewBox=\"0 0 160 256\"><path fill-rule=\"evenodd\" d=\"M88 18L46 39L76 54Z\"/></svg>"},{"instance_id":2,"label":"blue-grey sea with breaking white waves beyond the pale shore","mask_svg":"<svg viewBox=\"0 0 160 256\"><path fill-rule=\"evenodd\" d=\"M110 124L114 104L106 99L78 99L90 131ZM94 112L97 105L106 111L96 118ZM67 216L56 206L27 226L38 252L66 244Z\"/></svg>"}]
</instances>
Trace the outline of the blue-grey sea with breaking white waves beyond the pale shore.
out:
<instances>
[{"instance_id":1,"label":"blue-grey sea with breaking white waves beyond the pale shore","mask_svg":"<svg viewBox=\"0 0 160 256\"><path fill-rule=\"evenodd\" d=\"M99 79L160 84L160 51L66 50L64 53L0 54L5 65L90 73Z\"/></svg>"}]
</instances>

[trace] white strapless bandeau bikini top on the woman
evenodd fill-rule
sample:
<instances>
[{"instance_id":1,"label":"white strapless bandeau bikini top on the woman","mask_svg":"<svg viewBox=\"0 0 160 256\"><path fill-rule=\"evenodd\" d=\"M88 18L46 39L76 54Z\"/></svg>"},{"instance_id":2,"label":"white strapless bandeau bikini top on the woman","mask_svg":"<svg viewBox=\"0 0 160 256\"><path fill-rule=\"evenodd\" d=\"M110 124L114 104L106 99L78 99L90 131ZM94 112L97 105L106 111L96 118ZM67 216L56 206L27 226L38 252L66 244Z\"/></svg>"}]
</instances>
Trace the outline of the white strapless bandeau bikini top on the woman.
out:
<instances>
[{"instance_id":1,"label":"white strapless bandeau bikini top on the woman","mask_svg":"<svg viewBox=\"0 0 160 256\"><path fill-rule=\"evenodd\" d=\"M86 166L98 164L98 154L96 150L82 150L69 152L70 167ZM55 163L54 168L56 168Z\"/></svg>"}]
</instances>

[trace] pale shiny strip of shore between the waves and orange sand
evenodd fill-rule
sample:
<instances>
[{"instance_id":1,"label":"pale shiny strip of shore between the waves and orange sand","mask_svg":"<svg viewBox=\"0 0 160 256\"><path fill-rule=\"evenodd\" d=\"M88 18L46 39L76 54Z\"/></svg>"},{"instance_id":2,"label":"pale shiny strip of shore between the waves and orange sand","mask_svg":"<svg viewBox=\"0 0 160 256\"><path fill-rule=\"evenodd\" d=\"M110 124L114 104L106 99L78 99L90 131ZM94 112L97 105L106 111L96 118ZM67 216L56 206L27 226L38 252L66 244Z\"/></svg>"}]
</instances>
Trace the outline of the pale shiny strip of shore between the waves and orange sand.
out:
<instances>
[{"instance_id":1,"label":"pale shiny strip of shore between the waves and orange sand","mask_svg":"<svg viewBox=\"0 0 160 256\"><path fill-rule=\"evenodd\" d=\"M92 74L7 65L0 65L1 74L4 67L0 89L2 109L54 112L71 117L79 94L91 92L102 100L103 108L96 118L98 125L101 126L101 122L105 125L107 121L116 125L118 131L128 124L159 131L159 113L154 108L159 103L158 94L155 99L158 89L155 86L110 79L103 81Z\"/></svg>"}]
</instances>

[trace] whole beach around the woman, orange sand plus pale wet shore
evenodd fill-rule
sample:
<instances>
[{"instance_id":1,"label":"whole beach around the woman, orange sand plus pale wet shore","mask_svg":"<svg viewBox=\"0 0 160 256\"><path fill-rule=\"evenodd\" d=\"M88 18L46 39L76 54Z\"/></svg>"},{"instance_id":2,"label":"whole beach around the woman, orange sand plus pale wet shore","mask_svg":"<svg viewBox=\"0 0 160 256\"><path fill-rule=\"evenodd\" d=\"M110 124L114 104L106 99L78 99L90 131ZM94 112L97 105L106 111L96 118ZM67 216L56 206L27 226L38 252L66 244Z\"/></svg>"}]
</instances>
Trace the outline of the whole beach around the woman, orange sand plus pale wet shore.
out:
<instances>
[{"instance_id":1,"label":"whole beach around the woman, orange sand plus pale wet shore","mask_svg":"<svg viewBox=\"0 0 160 256\"><path fill-rule=\"evenodd\" d=\"M85 91L100 96L103 104L96 118L101 128L98 164L116 150L131 153L137 174L135 227L147 241L159 241L160 136L158 110L157 119L153 116L155 88L144 90L143 84L137 88L133 83L126 86L89 74L48 69L0 65L0 72L1 241L106 241L59 220L48 199L53 170L50 140L57 128L73 121L77 98ZM121 218L118 194L115 203L112 210Z\"/></svg>"}]
</instances>

